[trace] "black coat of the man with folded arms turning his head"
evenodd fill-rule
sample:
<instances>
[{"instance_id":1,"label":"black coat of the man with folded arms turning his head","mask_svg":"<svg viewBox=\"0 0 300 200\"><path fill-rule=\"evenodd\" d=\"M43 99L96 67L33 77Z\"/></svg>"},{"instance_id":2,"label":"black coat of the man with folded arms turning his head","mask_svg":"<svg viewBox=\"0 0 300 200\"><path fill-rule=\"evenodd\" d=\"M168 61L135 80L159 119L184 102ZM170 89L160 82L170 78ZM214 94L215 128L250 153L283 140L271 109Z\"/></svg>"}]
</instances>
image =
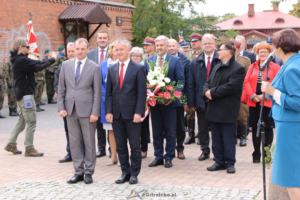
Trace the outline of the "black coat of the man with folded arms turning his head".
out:
<instances>
[{"instance_id":1,"label":"black coat of the man with folded arms turning his head","mask_svg":"<svg viewBox=\"0 0 300 200\"><path fill-rule=\"evenodd\" d=\"M206 118L213 122L236 123L241 104L245 68L235 61L234 55L224 66L221 66L222 63L214 67L203 87L203 97L205 97L205 92L210 90L212 98L208 101Z\"/></svg>"}]
</instances>

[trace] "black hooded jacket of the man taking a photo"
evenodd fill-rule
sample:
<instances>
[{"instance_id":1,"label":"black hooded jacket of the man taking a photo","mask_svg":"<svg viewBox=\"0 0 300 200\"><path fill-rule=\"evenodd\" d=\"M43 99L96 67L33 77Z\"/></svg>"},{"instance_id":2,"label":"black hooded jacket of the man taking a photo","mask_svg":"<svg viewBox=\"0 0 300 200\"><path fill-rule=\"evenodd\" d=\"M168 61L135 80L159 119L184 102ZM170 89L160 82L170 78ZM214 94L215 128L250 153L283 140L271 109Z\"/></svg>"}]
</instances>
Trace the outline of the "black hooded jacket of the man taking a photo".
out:
<instances>
[{"instance_id":1,"label":"black hooded jacket of the man taking a photo","mask_svg":"<svg viewBox=\"0 0 300 200\"><path fill-rule=\"evenodd\" d=\"M11 52L11 70L13 72L13 91L19 101L25 95L35 94L35 72L42 71L55 62L54 58L33 60L24 54Z\"/></svg>"}]
</instances>

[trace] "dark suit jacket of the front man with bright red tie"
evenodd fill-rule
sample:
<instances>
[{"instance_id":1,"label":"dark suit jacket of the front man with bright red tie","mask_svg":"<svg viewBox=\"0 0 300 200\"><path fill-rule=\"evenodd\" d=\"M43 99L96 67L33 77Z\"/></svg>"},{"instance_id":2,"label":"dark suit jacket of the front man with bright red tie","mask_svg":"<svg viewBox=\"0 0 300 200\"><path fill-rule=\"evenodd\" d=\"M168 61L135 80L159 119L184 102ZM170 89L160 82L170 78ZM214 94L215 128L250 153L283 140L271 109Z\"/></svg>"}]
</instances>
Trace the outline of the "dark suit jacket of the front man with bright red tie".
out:
<instances>
[{"instance_id":1,"label":"dark suit jacket of the front man with bright red tie","mask_svg":"<svg viewBox=\"0 0 300 200\"><path fill-rule=\"evenodd\" d=\"M105 114L113 113L117 119L133 119L134 114L145 116L147 97L147 78L143 65L129 61L122 88L119 85L119 62L111 65L107 71Z\"/></svg>"}]
</instances>

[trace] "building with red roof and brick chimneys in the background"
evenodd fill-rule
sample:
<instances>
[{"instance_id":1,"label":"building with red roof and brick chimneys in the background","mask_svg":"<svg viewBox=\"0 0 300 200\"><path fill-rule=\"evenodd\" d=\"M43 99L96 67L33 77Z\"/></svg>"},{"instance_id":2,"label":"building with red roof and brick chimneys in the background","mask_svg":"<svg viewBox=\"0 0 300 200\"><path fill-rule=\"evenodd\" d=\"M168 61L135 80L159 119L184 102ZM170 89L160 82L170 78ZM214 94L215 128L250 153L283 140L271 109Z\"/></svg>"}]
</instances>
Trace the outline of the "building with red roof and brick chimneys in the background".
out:
<instances>
[{"instance_id":1,"label":"building with red roof and brick chimneys in the background","mask_svg":"<svg viewBox=\"0 0 300 200\"><path fill-rule=\"evenodd\" d=\"M272 37L275 32L283 28L292 28L300 36L300 19L280 12L277 4L273 4L273 10L257 13L254 11L254 4L248 5L247 14L217 23L216 26L220 27L218 30L225 32L234 28L245 37L249 48L265 41L266 37Z\"/></svg>"}]
</instances>

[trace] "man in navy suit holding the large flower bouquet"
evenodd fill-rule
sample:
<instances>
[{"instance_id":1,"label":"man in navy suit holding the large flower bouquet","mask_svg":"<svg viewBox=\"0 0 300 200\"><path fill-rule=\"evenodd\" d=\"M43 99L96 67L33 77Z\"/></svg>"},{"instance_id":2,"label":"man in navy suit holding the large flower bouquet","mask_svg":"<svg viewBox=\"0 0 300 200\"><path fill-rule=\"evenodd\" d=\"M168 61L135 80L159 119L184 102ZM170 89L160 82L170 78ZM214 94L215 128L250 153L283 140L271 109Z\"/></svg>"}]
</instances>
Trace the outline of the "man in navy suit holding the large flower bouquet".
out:
<instances>
[{"instance_id":1,"label":"man in navy suit holding the large flower bouquet","mask_svg":"<svg viewBox=\"0 0 300 200\"><path fill-rule=\"evenodd\" d=\"M181 85L184 85L184 70L181 64L181 59L177 56L167 53L169 46L169 39L164 36L158 36L155 39L155 49L157 55L149 57L145 61L146 74L149 72L149 62L152 60L159 65L163 62L168 62L169 71L168 78L171 81L180 81ZM179 89L182 91L182 88ZM150 106L151 122L152 122L152 134L153 134L153 147L155 160L149 164L149 167L156 167L164 164L164 158L166 160L165 167L172 167L173 154L176 148L176 110L180 106L178 101L168 102L165 105L156 104L154 107ZM164 155L164 136L163 129L166 130L166 154ZM122 165L122 164L121 164Z\"/></svg>"}]
</instances>

